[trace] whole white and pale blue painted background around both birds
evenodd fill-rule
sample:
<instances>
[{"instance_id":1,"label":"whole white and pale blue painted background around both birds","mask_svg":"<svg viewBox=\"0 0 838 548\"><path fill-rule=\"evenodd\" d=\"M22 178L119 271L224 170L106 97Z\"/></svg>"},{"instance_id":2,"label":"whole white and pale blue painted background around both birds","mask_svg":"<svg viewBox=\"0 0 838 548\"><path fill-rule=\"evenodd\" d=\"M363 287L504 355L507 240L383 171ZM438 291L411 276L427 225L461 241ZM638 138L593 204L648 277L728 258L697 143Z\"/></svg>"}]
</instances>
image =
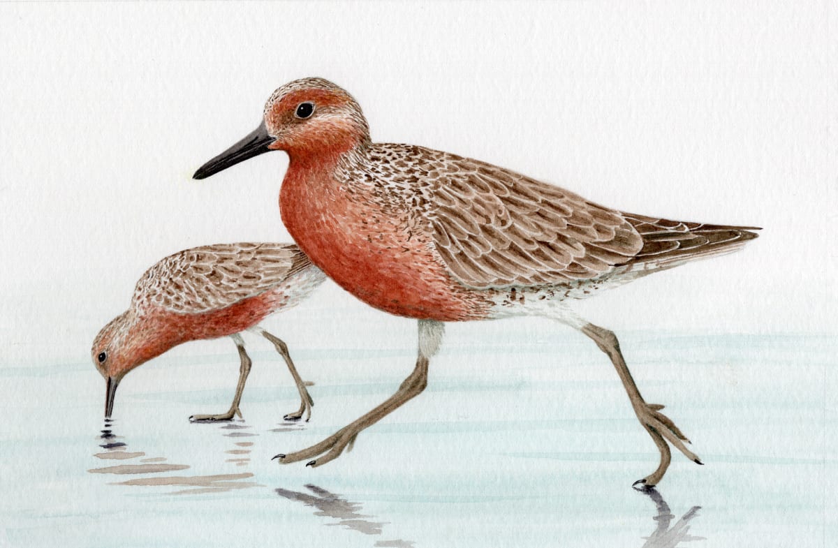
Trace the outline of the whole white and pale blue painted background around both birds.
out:
<instances>
[{"instance_id":1,"label":"whole white and pale blue painted background around both birds","mask_svg":"<svg viewBox=\"0 0 838 548\"><path fill-rule=\"evenodd\" d=\"M0 545L834 545L836 12L3 3ZM349 90L375 141L640 214L763 226L736 255L577 306L706 466L674 455L660 499L629 489L654 446L608 359L541 319L449 325L426 393L353 452L272 463L384 400L415 357L414 321L331 283L265 323L316 383L307 425L282 424L296 392L251 336L240 428L186 420L229 402L224 339L129 375L101 438L89 349L137 277L190 246L289 240L282 153L190 177L307 75ZM109 442L143 454L101 458Z\"/></svg>"}]
</instances>

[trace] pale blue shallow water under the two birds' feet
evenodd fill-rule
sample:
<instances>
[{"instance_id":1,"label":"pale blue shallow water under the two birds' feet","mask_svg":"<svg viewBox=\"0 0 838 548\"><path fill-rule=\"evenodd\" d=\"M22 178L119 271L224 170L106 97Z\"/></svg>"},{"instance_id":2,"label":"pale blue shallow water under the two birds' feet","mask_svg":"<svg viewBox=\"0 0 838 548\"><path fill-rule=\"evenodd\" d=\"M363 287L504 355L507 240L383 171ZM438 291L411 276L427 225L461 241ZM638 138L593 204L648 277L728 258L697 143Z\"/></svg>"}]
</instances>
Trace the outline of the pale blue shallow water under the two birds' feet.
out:
<instances>
[{"instance_id":1,"label":"pale blue shallow water under the two birds' feet","mask_svg":"<svg viewBox=\"0 0 838 548\"><path fill-rule=\"evenodd\" d=\"M706 463L674 453L642 493L656 452L608 360L527 325L507 324L525 351L449 331L427 391L317 469L271 458L385 399L413 349L292 345L316 383L307 424L282 421L297 396L264 348L246 420L216 424L187 417L226 410L231 345L133 372L109 427L91 364L6 364L0 546L838 545L832 337L618 333Z\"/></svg>"}]
</instances>

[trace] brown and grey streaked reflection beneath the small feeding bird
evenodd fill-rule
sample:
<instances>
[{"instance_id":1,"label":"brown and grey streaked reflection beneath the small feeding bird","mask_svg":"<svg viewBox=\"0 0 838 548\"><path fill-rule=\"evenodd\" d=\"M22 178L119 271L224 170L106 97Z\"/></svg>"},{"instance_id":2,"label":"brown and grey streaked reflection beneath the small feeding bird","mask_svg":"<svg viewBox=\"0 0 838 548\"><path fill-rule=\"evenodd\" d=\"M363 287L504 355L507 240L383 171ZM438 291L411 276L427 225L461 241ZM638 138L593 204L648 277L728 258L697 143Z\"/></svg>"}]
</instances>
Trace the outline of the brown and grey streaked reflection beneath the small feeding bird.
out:
<instances>
[{"instance_id":1,"label":"brown and grey streaked reflection beneath the small feeding bird","mask_svg":"<svg viewBox=\"0 0 838 548\"><path fill-rule=\"evenodd\" d=\"M115 485L145 485L162 486L173 485L180 489L173 494L201 494L220 493L233 489L247 489L250 487L261 487L259 483L241 481L252 478L252 473L227 473L209 476L160 476L154 474L185 470L189 464L166 463L165 457L147 457L145 452L131 452L127 450L127 443L120 441L122 437L113 432L114 421L106 419L105 427L98 437L99 447L104 451L97 450L94 457L105 461L131 461L131 463L120 463L102 468L91 468L90 473L105 473L116 475L138 475L141 477L132 478L124 482L113 483ZM222 427L230 429L230 425ZM240 427L241 428L241 427ZM231 436L230 436L231 437ZM241 434L240 436L241 437ZM234 438L235 439L235 438ZM228 463L235 463L237 466L245 466L250 462L247 458L251 452L252 442L235 442L235 448L226 451L233 456L228 458Z\"/></svg>"}]
</instances>

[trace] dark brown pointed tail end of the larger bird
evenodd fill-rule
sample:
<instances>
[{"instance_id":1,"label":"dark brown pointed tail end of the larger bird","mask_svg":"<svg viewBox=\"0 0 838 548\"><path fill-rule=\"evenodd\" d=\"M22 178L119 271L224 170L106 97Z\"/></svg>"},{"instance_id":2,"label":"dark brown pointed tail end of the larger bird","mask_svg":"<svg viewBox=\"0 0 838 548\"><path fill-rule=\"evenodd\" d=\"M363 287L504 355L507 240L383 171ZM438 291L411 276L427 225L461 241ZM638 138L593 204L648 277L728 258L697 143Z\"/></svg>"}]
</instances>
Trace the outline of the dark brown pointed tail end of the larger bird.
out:
<instances>
[{"instance_id":1,"label":"dark brown pointed tail end of the larger bird","mask_svg":"<svg viewBox=\"0 0 838 548\"><path fill-rule=\"evenodd\" d=\"M623 264L644 269L678 266L686 261L727 255L758 236L756 226L707 225L624 214L643 237L643 248Z\"/></svg>"}]
</instances>

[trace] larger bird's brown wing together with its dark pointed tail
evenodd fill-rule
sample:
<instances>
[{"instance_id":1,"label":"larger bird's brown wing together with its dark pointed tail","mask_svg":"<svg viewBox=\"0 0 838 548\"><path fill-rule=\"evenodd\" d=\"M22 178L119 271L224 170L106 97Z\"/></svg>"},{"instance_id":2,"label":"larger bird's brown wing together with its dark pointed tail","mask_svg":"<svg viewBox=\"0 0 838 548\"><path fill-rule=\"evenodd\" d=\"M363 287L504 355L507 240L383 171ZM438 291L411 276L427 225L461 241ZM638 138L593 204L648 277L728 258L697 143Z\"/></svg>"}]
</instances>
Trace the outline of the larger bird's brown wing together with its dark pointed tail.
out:
<instances>
[{"instance_id":1,"label":"larger bird's brown wing together with its dark pointed tail","mask_svg":"<svg viewBox=\"0 0 838 548\"><path fill-rule=\"evenodd\" d=\"M668 268L737 251L755 227L623 213L551 184L451 154L432 188L432 232L450 273L468 287L539 286L617 267Z\"/></svg>"}]
</instances>

